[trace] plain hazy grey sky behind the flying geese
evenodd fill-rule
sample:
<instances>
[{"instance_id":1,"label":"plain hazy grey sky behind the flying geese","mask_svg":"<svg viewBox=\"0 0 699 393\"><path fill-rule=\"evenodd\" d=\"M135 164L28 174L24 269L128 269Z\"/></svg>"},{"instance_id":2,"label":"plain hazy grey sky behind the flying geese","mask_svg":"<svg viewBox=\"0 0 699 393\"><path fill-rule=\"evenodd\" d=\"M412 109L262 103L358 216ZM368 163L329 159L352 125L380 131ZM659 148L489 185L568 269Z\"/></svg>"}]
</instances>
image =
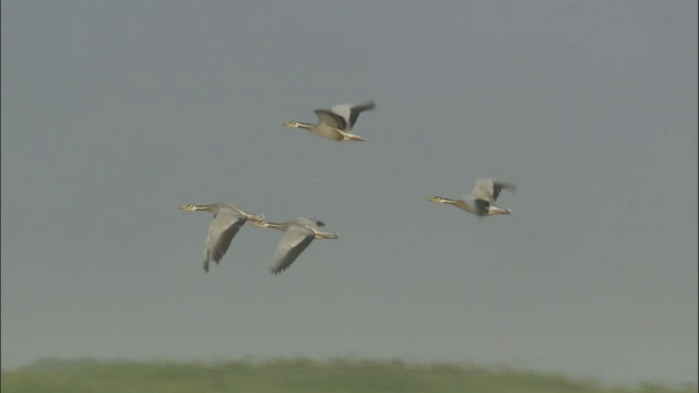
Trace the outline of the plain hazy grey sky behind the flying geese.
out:
<instances>
[{"instance_id":1,"label":"plain hazy grey sky behind the flying geese","mask_svg":"<svg viewBox=\"0 0 699 393\"><path fill-rule=\"evenodd\" d=\"M2 1L2 367L403 357L697 381L696 1ZM374 98L336 143L288 120ZM518 184L478 219L425 201ZM282 275L225 201L317 216Z\"/></svg>"}]
</instances>

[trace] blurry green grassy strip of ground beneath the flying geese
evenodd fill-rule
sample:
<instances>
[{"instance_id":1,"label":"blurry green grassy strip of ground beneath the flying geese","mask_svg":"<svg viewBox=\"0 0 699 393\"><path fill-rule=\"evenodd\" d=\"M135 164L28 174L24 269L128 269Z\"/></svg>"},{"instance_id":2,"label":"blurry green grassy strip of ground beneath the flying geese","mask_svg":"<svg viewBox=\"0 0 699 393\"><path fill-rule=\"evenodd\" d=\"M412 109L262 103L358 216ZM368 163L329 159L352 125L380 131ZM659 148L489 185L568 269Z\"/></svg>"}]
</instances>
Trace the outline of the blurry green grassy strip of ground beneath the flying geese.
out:
<instances>
[{"instance_id":1,"label":"blurry green grassy strip of ground beneath the flying geese","mask_svg":"<svg viewBox=\"0 0 699 393\"><path fill-rule=\"evenodd\" d=\"M408 364L400 360L298 359L221 362L45 359L2 371L3 393L159 392L697 392L697 386L609 386L508 367Z\"/></svg>"}]
</instances>

